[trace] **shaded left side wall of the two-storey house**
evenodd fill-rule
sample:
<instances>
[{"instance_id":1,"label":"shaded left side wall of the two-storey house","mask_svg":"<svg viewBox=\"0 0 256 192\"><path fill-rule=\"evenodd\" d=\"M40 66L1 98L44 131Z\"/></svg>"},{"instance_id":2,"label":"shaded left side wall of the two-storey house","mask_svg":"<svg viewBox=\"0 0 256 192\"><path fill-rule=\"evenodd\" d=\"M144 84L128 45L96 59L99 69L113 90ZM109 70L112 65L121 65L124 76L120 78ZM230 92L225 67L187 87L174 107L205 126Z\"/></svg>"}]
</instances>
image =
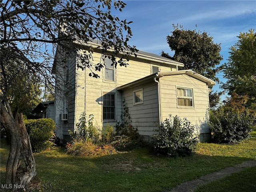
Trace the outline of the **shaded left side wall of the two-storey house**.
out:
<instances>
[{"instance_id":1,"label":"shaded left side wall of the two-storey house","mask_svg":"<svg viewBox=\"0 0 256 192\"><path fill-rule=\"evenodd\" d=\"M74 130L74 104L76 88L76 57L75 54L58 46L55 70L55 126L56 136L61 139L69 139L68 130ZM68 120L60 119L60 114L67 113Z\"/></svg>"}]
</instances>

